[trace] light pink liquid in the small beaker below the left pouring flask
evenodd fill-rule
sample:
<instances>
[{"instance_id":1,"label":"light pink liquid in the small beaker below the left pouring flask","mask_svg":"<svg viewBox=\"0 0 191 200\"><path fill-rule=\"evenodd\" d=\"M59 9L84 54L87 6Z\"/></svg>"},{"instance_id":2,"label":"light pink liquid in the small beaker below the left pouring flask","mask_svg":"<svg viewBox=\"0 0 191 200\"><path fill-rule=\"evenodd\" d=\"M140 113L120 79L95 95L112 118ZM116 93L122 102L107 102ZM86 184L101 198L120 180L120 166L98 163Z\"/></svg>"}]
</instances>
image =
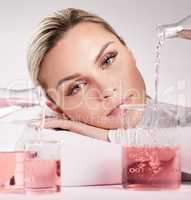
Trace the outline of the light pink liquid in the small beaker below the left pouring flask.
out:
<instances>
[{"instance_id":1,"label":"light pink liquid in the small beaker below the left pouring flask","mask_svg":"<svg viewBox=\"0 0 191 200\"><path fill-rule=\"evenodd\" d=\"M60 160L28 159L25 162L27 192L59 192L61 189Z\"/></svg>"}]
</instances>

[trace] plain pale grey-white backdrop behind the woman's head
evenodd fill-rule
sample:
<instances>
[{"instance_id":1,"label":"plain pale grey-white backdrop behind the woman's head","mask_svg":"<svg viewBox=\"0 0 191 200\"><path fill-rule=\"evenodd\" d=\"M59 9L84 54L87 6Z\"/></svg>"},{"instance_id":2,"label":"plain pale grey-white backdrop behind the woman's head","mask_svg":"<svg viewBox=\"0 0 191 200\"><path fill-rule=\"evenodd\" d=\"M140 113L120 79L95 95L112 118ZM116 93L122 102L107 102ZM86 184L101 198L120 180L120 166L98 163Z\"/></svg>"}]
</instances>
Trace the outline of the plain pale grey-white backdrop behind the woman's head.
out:
<instances>
[{"instance_id":1,"label":"plain pale grey-white backdrop behind the woman's head","mask_svg":"<svg viewBox=\"0 0 191 200\"><path fill-rule=\"evenodd\" d=\"M156 25L191 14L191 0L0 0L0 87L27 87L26 52L32 31L55 10L81 8L104 17L135 54L154 94ZM168 40L162 49L159 100L191 106L191 41Z\"/></svg>"}]
</instances>

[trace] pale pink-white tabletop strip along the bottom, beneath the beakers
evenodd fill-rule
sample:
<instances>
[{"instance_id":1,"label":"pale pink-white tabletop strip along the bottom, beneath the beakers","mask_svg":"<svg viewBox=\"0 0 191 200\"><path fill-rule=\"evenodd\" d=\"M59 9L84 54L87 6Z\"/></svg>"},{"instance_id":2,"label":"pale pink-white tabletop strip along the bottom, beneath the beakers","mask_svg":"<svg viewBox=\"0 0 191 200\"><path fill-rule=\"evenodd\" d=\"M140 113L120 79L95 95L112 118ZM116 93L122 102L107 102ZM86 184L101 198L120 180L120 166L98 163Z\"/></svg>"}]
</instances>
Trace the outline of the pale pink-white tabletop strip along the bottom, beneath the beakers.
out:
<instances>
[{"instance_id":1,"label":"pale pink-white tabletop strip along the bottom, beneath the beakers","mask_svg":"<svg viewBox=\"0 0 191 200\"><path fill-rule=\"evenodd\" d=\"M65 187L62 193L41 195L0 194L0 200L190 200L191 184L178 190L138 191L120 185Z\"/></svg>"}]
</instances>

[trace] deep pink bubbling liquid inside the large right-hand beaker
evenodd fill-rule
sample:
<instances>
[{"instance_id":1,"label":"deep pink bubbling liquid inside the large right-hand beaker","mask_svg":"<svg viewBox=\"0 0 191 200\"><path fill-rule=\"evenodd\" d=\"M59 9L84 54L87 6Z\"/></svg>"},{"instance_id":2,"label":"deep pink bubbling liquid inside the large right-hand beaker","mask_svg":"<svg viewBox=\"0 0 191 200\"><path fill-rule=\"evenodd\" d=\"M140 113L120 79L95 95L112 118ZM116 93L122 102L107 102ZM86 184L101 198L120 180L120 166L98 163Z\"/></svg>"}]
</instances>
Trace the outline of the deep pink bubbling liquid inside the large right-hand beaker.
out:
<instances>
[{"instance_id":1,"label":"deep pink bubbling liquid inside the large right-hand beaker","mask_svg":"<svg viewBox=\"0 0 191 200\"><path fill-rule=\"evenodd\" d=\"M123 187L178 188L181 183L179 153L177 147L123 147Z\"/></svg>"}]
</instances>

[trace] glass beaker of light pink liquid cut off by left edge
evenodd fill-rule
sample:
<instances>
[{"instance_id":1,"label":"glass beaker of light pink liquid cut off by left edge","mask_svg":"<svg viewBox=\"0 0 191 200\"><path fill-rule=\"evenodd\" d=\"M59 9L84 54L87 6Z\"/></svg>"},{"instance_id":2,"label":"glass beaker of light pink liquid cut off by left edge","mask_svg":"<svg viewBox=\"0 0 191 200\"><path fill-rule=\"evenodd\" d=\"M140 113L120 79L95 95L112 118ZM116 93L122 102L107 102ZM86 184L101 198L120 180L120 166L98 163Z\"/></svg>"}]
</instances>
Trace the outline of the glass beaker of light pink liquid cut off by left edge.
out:
<instances>
[{"instance_id":1,"label":"glass beaker of light pink liquid cut off by left edge","mask_svg":"<svg viewBox=\"0 0 191 200\"><path fill-rule=\"evenodd\" d=\"M0 193L24 193L24 162L31 152L16 150L21 124L0 123Z\"/></svg>"}]
</instances>

